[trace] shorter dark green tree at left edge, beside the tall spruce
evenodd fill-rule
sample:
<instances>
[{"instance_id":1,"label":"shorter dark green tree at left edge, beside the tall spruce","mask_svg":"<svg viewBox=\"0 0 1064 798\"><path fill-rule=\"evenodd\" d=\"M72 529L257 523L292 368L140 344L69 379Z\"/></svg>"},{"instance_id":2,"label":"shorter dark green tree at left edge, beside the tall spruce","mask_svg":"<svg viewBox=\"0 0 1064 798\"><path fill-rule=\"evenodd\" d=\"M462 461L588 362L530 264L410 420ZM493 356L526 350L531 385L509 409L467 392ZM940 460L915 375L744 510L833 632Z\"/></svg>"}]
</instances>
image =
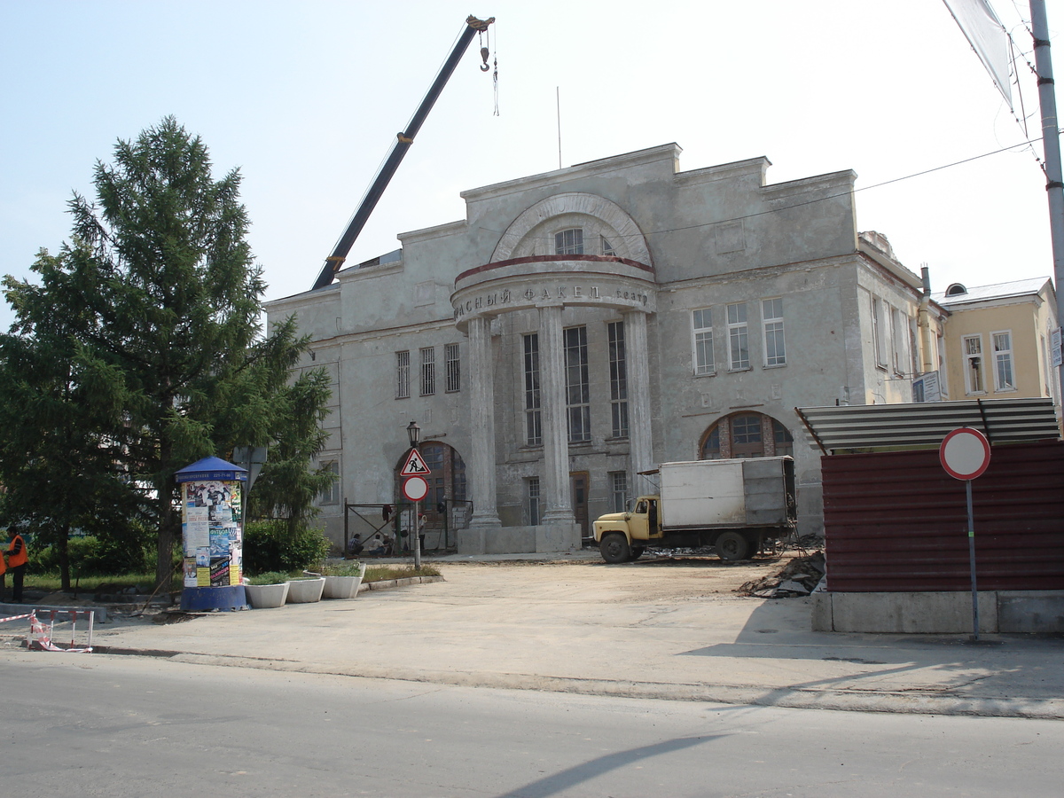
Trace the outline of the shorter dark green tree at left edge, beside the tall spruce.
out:
<instances>
[{"instance_id":1,"label":"shorter dark green tree at left edge, beside the tall spruce","mask_svg":"<svg viewBox=\"0 0 1064 798\"><path fill-rule=\"evenodd\" d=\"M60 273L54 261L41 253L41 271ZM55 313L45 292L15 297L22 334L0 335L2 521L28 527L34 548L50 546L69 588L74 529L137 536L138 502L104 434L120 425L121 410L113 375L72 334L76 321Z\"/></svg>"}]
</instances>

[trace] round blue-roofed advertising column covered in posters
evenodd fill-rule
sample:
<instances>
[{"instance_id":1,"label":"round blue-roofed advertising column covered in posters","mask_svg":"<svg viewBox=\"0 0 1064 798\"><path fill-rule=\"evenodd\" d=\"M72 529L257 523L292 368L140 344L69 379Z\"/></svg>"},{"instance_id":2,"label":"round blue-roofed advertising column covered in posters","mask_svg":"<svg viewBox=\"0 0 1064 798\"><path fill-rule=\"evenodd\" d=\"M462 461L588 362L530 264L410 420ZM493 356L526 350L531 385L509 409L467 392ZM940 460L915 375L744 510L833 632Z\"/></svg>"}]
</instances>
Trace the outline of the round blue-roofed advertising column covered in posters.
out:
<instances>
[{"instance_id":1,"label":"round blue-roofed advertising column covered in posters","mask_svg":"<svg viewBox=\"0 0 1064 798\"><path fill-rule=\"evenodd\" d=\"M177 472L184 556L182 610L243 610L244 486L248 472L204 458Z\"/></svg>"}]
</instances>

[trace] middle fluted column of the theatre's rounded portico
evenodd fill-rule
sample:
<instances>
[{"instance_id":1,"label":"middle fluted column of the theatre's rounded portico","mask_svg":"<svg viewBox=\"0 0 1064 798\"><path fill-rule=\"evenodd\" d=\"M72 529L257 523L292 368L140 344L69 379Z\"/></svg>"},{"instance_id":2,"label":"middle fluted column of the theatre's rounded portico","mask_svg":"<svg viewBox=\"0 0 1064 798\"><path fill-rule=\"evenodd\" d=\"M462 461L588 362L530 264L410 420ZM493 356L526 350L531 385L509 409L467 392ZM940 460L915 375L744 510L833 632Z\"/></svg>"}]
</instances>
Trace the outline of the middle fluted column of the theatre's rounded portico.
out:
<instances>
[{"instance_id":1,"label":"middle fluted column of the theatre's rounded portico","mask_svg":"<svg viewBox=\"0 0 1064 798\"><path fill-rule=\"evenodd\" d=\"M569 495L569 428L565 420L562 307L539 309L539 403L543 413L545 523L576 523Z\"/></svg>"}]
</instances>

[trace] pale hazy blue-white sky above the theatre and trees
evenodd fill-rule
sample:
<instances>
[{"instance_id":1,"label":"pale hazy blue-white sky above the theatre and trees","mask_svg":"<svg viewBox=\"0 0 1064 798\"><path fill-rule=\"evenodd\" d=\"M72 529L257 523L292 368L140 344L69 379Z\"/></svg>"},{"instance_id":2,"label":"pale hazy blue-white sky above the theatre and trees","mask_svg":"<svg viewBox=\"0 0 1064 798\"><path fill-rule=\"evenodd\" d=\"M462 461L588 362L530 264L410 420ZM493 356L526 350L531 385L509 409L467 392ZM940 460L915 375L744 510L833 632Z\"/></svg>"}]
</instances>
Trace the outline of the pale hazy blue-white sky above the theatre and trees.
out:
<instances>
[{"instance_id":1,"label":"pale hazy blue-white sky above the theatre and trees","mask_svg":"<svg viewBox=\"0 0 1064 798\"><path fill-rule=\"evenodd\" d=\"M1030 149L938 168L1041 129L1023 61L1027 134L938 0L478 2L0 0L0 273L29 278L96 161L172 114L217 176L240 169L266 297L309 289L469 13L497 18L500 115L475 43L348 263L556 169L560 96L564 166L676 142L684 169L767 156L772 183L853 169L860 228L935 290L1052 273ZM1026 2L994 5L1033 59Z\"/></svg>"}]
</instances>

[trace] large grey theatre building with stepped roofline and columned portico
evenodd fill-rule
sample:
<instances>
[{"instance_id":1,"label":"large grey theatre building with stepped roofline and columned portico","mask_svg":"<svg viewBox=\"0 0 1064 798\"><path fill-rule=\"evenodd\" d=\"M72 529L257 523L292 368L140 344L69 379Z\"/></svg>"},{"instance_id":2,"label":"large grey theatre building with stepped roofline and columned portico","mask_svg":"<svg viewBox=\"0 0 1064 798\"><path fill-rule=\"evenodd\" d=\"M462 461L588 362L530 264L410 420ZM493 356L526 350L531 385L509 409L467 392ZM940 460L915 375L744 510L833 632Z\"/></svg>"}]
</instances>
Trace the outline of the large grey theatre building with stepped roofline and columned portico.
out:
<instances>
[{"instance_id":1,"label":"large grey theatre building with stepped roofline and columned portico","mask_svg":"<svg viewBox=\"0 0 1064 798\"><path fill-rule=\"evenodd\" d=\"M577 548L656 463L793 454L801 531L820 452L796 406L911 401L942 309L859 233L851 171L767 184L764 157L692 171L674 144L463 193L466 218L267 305L333 382L319 498L392 503L421 427L429 526L460 552ZM453 539L453 538L452 538Z\"/></svg>"}]
</instances>

